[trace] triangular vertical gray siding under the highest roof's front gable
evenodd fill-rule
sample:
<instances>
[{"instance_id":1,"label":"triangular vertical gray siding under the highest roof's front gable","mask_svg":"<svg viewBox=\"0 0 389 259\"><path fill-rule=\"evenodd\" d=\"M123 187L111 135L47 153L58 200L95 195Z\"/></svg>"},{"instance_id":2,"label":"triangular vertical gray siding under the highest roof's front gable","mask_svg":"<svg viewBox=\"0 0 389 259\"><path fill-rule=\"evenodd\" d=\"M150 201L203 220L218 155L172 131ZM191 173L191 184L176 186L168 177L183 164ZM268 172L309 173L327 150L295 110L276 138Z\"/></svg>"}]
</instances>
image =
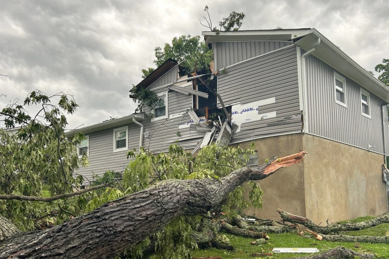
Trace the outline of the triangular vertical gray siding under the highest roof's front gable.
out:
<instances>
[{"instance_id":1,"label":"triangular vertical gray siding under the highest roof's front gable","mask_svg":"<svg viewBox=\"0 0 389 259\"><path fill-rule=\"evenodd\" d=\"M290 44L293 43L286 41L216 42L214 50L217 62L216 69L284 48Z\"/></svg>"}]
</instances>

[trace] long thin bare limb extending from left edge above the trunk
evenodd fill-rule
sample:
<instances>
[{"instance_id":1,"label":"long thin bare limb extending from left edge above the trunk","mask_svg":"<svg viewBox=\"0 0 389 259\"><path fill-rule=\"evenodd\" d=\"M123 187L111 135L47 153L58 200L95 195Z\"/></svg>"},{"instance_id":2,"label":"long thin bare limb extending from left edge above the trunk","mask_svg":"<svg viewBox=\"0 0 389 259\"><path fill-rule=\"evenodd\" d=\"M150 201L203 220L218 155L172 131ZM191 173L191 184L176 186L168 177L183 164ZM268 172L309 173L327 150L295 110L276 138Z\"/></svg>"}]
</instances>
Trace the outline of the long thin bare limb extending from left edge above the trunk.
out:
<instances>
[{"instance_id":1,"label":"long thin bare limb extending from left edge above the trunk","mask_svg":"<svg viewBox=\"0 0 389 259\"><path fill-rule=\"evenodd\" d=\"M73 192L73 193L59 194L59 195L52 196L52 197L38 197L38 196L23 196L23 195L4 194L4 195L0 195L0 200L51 202L51 201L59 200L59 199L62 199L62 198L69 198L69 197L73 197L73 196L80 195L80 194L83 194L83 193L88 193L88 192L96 190L96 189L100 189L100 188L104 188L104 187L109 187L112 183L114 183L116 181L119 181L119 180L122 180L122 179L123 178L118 178L118 179L115 179L115 180L113 180L113 181L111 181L109 183L92 186L92 187L85 188L83 190L80 190L80 191L77 191L77 192Z\"/></svg>"}]
</instances>

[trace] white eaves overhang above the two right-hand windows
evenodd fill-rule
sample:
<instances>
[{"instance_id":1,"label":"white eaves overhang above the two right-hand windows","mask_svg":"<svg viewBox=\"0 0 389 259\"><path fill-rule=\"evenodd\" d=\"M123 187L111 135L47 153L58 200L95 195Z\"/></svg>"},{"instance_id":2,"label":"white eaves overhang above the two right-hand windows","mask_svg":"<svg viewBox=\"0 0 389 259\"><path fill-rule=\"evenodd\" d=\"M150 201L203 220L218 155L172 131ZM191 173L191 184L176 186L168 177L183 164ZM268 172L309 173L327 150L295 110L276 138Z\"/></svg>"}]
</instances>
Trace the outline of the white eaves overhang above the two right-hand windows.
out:
<instances>
[{"instance_id":1,"label":"white eaves overhang above the two right-hand windows","mask_svg":"<svg viewBox=\"0 0 389 259\"><path fill-rule=\"evenodd\" d=\"M313 56L334 67L340 73L370 90L381 99L389 101L389 87L367 72L316 29L312 29L308 35L297 40L295 44L309 51L313 48L318 38L320 38L320 44L312 52Z\"/></svg>"}]
</instances>

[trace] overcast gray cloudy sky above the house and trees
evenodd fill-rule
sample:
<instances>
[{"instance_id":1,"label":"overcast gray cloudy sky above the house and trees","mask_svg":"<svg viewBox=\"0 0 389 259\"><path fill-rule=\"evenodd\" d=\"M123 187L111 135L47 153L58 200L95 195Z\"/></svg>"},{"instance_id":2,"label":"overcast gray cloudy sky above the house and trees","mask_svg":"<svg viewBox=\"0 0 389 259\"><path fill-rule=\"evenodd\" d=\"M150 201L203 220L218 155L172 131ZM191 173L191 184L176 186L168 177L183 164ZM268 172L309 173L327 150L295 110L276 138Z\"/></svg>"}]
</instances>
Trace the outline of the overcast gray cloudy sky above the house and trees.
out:
<instances>
[{"instance_id":1,"label":"overcast gray cloudy sky above the house and trees","mask_svg":"<svg viewBox=\"0 0 389 259\"><path fill-rule=\"evenodd\" d=\"M70 128L131 114L128 90L154 66L154 48L201 34L205 5L213 23L244 12L243 30L316 28L368 70L389 58L387 0L0 0L0 107L37 88L75 97Z\"/></svg>"}]
</instances>

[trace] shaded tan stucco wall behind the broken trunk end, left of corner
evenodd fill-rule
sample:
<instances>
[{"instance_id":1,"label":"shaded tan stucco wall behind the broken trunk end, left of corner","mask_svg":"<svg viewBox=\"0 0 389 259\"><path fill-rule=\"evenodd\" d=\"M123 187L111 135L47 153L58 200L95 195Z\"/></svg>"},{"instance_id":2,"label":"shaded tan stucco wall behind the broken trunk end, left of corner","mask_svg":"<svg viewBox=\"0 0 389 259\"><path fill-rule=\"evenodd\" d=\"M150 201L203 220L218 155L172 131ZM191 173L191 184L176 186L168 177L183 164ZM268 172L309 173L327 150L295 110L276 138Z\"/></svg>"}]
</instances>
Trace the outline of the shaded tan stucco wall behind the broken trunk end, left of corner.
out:
<instances>
[{"instance_id":1,"label":"shaded tan stucco wall behind the broken trunk end, left of corner","mask_svg":"<svg viewBox=\"0 0 389 259\"><path fill-rule=\"evenodd\" d=\"M285 156L297 153L302 149L302 134L289 134L282 136L255 139L234 146L242 147L255 144L258 150L258 163L263 164L265 159L272 156ZM304 172L302 163L292 167L282 168L268 178L259 181L263 195L263 207L261 209L249 208L244 211L247 215L255 215L261 218L279 220L275 211L277 208L290 213L305 216ZM245 188L246 189L246 188ZM246 189L246 195L249 190Z\"/></svg>"}]
</instances>

